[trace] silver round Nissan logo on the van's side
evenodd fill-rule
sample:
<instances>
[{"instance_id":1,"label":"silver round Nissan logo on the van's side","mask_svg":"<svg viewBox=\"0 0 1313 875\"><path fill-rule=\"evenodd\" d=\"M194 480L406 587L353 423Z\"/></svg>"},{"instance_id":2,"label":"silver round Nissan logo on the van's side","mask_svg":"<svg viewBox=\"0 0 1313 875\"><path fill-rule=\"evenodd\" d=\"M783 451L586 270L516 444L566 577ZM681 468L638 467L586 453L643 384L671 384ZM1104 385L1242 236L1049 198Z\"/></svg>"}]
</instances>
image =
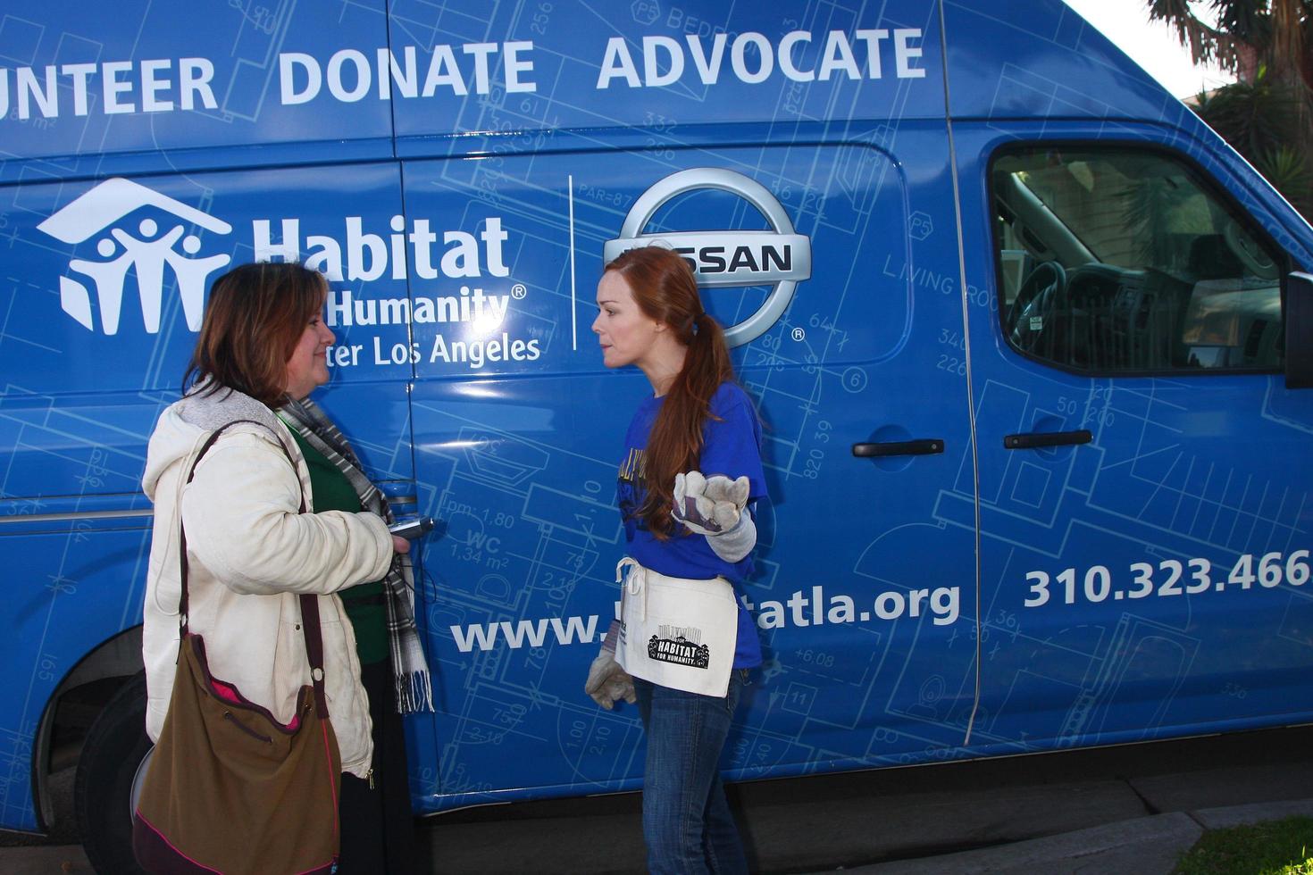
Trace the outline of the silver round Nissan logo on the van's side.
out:
<instances>
[{"instance_id":1,"label":"silver round Nissan logo on the van's side","mask_svg":"<svg viewBox=\"0 0 1313 875\"><path fill-rule=\"evenodd\" d=\"M771 231L672 231L642 234L643 226L671 198L688 192L713 189L738 194L755 206ZM788 310L798 282L811 277L811 240L793 232L784 206L764 185L742 173L697 167L672 173L643 192L620 227L620 236L603 247L609 264L637 247L664 247L684 256L705 289L764 286L773 289L756 312L735 325L726 325L725 341L742 346L764 335Z\"/></svg>"}]
</instances>

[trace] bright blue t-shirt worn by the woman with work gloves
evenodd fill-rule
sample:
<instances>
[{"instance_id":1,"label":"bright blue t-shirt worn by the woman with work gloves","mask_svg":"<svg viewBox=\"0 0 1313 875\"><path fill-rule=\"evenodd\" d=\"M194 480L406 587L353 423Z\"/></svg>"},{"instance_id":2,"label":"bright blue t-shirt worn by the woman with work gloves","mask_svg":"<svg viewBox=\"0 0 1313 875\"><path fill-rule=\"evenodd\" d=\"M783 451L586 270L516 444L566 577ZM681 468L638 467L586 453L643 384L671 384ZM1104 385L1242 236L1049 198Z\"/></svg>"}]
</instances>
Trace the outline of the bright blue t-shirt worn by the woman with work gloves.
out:
<instances>
[{"instance_id":1,"label":"bright blue t-shirt worn by the woman with work gloves","mask_svg":"<svg viewBox=\"0 0 1313 875\"><path fill-rule=\"evenodd\" d=\"M641 565L671 577L710 580L725 577L735 586L752 573L752 554L739 561L725 561L706 543L706 535L679 526L666 540L658 540L647 525L634 516L647 495L643 479L643 455L647 436L660 412L664 397L647 397L639 404L625 434L625 455L620 463L617 499L620 517L625 522L625 540L629 555ZM722 474L731 480L747 475L748 508L765 496L765 475L762 471L762 422L747 394L733 383L721 383L712 396L712 417L702 426L702 454L697 470L706 476ZM674 487L674 484L671 484ZM734 668L752 668L762 664L762 641L751 614L738 600L738 641L734 648Z\"/></svg>"}]
</instances>

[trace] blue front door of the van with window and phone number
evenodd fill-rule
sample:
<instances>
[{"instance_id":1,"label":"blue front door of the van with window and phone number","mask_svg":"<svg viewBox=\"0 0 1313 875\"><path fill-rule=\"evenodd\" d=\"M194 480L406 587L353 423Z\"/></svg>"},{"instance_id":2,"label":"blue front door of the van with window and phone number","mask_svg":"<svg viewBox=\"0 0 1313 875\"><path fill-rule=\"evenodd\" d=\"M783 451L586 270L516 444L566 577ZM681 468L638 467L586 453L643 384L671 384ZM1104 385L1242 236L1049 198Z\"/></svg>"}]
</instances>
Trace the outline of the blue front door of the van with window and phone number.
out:
<instances>
[{"instance_id":1,"label":"blue front door of the van with window and phone number","mask_svg":"<svg viewBox=\"0 0 1313 875\"><path fill-rule=\"evenodd\" d=\"M966 266L993 290L969 315L986 749L1308 719L1292 258L1242 206L1260 181L1165 139L958 126L962 177L986 181L964 194Z\"/></svg>"}]
</instances>

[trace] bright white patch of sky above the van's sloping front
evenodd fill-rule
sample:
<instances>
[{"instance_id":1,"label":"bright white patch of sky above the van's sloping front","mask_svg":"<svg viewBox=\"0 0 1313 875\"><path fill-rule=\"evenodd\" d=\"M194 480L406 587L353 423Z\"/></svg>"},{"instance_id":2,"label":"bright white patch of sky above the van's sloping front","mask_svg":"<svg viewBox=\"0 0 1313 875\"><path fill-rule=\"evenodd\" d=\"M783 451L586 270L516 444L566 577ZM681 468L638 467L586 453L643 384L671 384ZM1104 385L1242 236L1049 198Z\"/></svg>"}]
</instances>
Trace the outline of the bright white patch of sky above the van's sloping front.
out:
<instances>
[{"instance_id":1,"label":"bright white patch of sky above the van's sloping front","mask_svg":"<svg viewBox=\"0 0 1313 875\"><path fill-rule=\"evenodd\" d=\"M1217 88L1234 76L1216 67L1195 67L1190 50L1162 22L1150 24L1145 0L1065 0L1176 97ZM1192 3L1196 8L1201 4ZM1205 13L1201 13L1205 14Z\"/></svg>"}]
</instances>

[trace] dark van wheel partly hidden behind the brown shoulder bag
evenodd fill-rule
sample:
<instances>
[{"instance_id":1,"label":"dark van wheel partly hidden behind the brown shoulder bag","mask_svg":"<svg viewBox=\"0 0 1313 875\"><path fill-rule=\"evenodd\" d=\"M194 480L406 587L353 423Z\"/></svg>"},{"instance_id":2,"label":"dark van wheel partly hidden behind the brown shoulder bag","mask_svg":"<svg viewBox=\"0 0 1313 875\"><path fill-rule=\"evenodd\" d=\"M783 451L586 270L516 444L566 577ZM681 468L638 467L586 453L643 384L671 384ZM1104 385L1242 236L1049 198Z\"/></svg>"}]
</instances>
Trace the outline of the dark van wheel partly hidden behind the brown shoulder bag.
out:
<instances>
[{"instance_id":1,"label":"dark van wheel partly hidden behind the brown shoulder bag","mask_svg":"<svg viewBox=\"0 0 1313 875\"><path fill-rule=\"evenodd\" d=\"M87 732L74 808L87 859L97 872L140 872L133 855L133 781L151 749L146 735L146 676L114 694Z\"/></svg>"}]
</instances>

